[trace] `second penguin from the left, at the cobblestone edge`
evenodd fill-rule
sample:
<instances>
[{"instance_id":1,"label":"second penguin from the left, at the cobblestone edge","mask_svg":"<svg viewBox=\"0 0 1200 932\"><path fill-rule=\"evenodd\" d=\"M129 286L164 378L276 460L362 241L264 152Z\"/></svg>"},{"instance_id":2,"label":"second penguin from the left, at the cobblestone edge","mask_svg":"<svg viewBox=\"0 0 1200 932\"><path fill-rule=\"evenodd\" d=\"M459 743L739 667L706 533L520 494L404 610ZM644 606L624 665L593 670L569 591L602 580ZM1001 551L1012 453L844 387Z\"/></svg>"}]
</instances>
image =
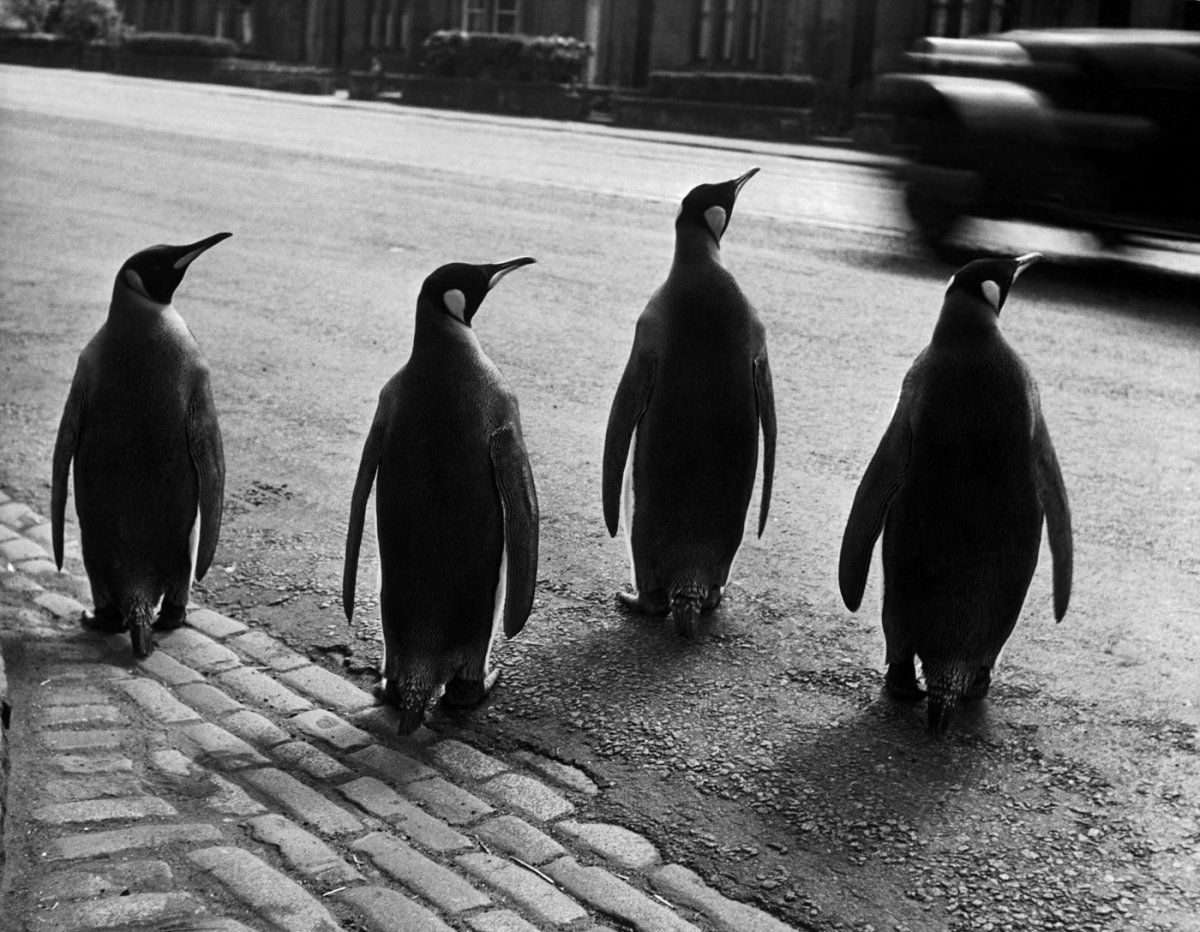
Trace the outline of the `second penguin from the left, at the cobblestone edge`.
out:
<instances>
[{"instance_id":1,"label":"second penguin from the left, at the cobblestone edge","mask_svg":"<svg viewBox=\"0 0 1200 932\"><path fill-rule=\"evenodd\" d=\"M382 577L384 657L377 695L409 734L443 686L443 703L481 703L498 631L515 637L533 608L538 494L517 399L484 354L472 319L524 257L455 263L416 299L413 351L379 392L362 449L342 572L354 613L359 547L371 487Z\"/></svg>"}]
</instances>

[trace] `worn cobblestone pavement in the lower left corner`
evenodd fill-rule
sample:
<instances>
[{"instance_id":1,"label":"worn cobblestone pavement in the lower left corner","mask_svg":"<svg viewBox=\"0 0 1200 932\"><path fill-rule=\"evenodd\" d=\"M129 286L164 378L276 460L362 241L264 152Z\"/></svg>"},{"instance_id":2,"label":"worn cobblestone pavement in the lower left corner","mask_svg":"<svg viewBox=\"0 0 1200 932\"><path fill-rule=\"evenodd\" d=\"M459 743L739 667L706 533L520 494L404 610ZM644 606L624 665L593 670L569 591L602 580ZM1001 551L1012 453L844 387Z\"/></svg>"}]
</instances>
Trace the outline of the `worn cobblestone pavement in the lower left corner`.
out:
<instances>
[{"instance_id":1,"label":"worn cobblestone pavement in the lower left corner","mask_svg":"<svg viewBox=\"0 0 1200 932\"><path fill-rule=\"evenodd\" d=\"M59 573L49 535L0 492L5 932L787 928L588 820L576 768L400 738L240 621L192 607L134 661L79 626L78 545Z\"/></svg>"}]
</instances>

